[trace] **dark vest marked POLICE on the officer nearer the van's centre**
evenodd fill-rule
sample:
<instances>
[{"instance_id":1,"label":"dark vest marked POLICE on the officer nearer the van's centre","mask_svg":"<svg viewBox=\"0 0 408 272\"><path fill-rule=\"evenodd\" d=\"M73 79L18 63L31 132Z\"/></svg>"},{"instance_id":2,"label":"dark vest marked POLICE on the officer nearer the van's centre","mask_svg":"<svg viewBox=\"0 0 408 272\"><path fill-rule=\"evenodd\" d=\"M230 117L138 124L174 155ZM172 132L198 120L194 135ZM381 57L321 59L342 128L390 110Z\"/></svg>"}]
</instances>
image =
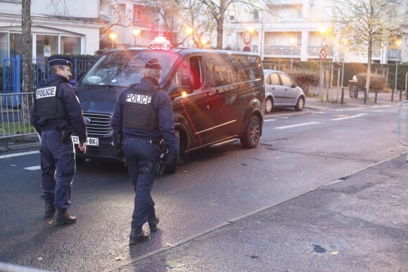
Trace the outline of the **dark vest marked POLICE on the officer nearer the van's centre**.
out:
<instances>
[{"instance_id":1,"label":"dark vest marked POLICE on the officer nearer the van's centre","mask_svg":"<svg viewBox=\"0 0 408 272\"><path fill-rule=\"evenodd\" d=\"M158 88L144 90L130 86L123 106L123 127L140 130L158 129L158 112L153 109L153 96Z\"/></svg>"}]
</instances>

